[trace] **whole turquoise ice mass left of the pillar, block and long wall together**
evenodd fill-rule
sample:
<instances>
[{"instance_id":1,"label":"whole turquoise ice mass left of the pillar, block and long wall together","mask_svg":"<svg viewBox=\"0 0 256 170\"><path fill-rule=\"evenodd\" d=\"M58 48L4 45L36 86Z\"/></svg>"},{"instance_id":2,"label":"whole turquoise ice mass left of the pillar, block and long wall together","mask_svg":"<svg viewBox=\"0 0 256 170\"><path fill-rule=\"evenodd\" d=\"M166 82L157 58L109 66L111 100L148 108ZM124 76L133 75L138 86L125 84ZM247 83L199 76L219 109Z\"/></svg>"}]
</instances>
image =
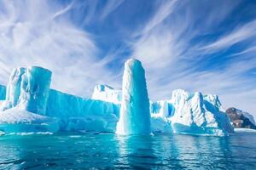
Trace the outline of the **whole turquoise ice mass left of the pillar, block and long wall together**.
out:
<instances>
[{"instance_id":1,"label":"whole turquoise ice mass left of the pillar, block and long wall together","mask_svg":"<svg viewBox=\"0 0 256 170\"><path fill-rule=\"evenodd\" d=\"M115 132L119 105L83 99L50 89L51 72L42 67L15 69L1 105L5 133L96 131Z\"/></svg>"}]
</instances>

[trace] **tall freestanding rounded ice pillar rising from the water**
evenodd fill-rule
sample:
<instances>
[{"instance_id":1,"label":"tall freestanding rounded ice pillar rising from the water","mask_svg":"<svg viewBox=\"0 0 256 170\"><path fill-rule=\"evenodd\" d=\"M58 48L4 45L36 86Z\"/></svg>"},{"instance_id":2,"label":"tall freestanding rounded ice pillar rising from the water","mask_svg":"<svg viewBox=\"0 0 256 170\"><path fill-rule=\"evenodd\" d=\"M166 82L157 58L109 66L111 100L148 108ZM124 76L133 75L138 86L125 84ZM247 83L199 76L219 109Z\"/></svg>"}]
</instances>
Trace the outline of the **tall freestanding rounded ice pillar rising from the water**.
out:
<instances>
[{"instance_id":1,"label":"tall freestanding rounded ice pillar rising from the water","mask_svg":"<svg viewBox=\"0 0 256 170\"><path fill-rule=\"evenodd\" d=\"M125 62L122 103L116 133L150 133L149 100L145 71L137 59Z\"/></svg>"}]
</instances>

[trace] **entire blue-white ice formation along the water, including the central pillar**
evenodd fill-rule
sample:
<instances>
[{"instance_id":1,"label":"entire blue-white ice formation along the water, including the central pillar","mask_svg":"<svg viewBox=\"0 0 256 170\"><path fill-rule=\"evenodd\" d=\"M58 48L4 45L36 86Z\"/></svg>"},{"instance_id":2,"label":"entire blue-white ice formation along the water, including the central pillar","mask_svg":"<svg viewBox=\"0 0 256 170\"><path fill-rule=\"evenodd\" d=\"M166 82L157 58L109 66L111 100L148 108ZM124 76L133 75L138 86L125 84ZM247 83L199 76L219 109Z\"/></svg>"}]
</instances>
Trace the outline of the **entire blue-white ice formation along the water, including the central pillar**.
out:
<instances>
[{"instance_id":1,"label":"entire blue-white ice formation along the water, including the central pillar","mask_svg":"<svg viewBox=\"0 0 256 170\"><path fill-rule=\"evenodd\" d=\"M51 74L37 66L12 72L7 88L0 86L0 131L233 132L216 95L174 90L170 99L149 102L145 72L136 59L125 63L122 90L97 85L91 99L50 89Z\"/></svg>"}]
</instances>

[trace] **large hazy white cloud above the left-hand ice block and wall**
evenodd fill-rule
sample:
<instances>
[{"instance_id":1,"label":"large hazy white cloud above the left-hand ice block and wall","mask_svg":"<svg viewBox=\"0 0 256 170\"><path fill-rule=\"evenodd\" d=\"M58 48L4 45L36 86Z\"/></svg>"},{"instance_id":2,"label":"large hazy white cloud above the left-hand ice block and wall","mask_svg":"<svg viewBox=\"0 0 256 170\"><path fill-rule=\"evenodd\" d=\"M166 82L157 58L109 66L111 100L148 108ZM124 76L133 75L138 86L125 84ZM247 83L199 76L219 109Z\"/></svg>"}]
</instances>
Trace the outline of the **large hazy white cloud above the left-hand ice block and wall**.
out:
<instances>
[{"instance_id":1,"label":"large hazy white cloud above the left-hand ice block and wall","mask_svg":"<svg viewBox=\"0 0 256 170\"><path fill-rule=\"evenodd\" d=\"M41 65L53 71L52 88L70 94L90 96L96 83L114 82L113 73L100 62L100 49L93 35L64 16L73 3L2 3L0 82L8 82L13 68L28 65Z\"/></svg>"}]
</instances>

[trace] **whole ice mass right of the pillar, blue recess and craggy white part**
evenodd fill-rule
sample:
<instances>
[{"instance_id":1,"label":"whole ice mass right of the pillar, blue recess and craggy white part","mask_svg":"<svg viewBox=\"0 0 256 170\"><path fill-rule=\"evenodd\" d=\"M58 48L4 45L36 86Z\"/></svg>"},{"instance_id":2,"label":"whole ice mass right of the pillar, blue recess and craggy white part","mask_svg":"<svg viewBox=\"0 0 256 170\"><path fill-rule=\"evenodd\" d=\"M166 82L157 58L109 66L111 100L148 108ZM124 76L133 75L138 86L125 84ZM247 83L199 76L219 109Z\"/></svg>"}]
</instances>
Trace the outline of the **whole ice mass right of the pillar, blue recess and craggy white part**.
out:
<instances>
[{"instance_id":1,"label":"whole ice mass right of the pillar, blue recess and craggy white part","mask_svg":"<svg viewBox=\"0 0 256 170\"><path fill-rule=\"evenodd\" d=\"M153 132L224 136L233 133L217 95L172 91L172 98L152 102Z\"/></svg>"}]
</instances>

